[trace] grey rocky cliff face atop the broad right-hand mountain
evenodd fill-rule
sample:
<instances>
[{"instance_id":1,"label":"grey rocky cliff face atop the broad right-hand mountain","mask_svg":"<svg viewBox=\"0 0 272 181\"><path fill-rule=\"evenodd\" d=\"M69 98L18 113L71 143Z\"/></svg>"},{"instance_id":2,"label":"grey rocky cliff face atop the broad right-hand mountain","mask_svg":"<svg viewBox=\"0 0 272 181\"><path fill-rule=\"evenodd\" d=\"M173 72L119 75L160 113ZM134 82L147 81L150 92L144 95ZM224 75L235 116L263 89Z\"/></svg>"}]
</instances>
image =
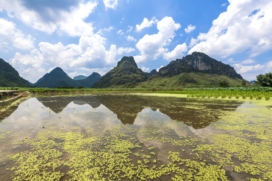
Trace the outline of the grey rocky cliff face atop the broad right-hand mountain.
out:
<instances>
[{"instance_id":1,"label":"grey rocky cliff face atop the broad right-hand mountain","mask_svg":"<svg viewBox=\"0 0 272 181\"><path fill-rule=\"evenodd\" d=\"M228 75L232 78L242 78L242 76L234 70L230 65L226 65L221 61L213 59L205 53L193 52L182 59L171 61L167 66L162 67L158 75L176 75L182 72L203 71L207 73L215 73Z\"/></svg>"}]
</instances>

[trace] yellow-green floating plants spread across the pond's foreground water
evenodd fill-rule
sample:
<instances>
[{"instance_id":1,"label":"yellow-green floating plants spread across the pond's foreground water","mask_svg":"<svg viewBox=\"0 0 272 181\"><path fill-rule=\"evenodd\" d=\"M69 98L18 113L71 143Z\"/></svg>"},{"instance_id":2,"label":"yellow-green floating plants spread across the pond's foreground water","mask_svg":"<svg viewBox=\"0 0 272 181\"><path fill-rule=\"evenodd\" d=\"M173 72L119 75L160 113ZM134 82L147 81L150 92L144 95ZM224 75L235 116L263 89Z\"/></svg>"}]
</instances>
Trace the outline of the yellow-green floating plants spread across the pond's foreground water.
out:
<instances>
[{"instance_id":1,"label":"yellow-green floating plants spread across the pond's foreground water","mask_svg":"<svg viewBox=\"0 0 272 181\"><path fill-rule=\"evenodd\" d=\"M159 112L138 114L144 126L107 125L99 113L85 114L91 120L88 126L66 128L52 121L34 137L15 140L13 145L28 149L1 155L10 179L235 180L231 173L243 180L272 179L269 107L245 104L219 114L217 122L200 130L166 122ZM190 129L194 134L182 135ZM4 141L6 135L16 134L6 129L1 133Z\"/></svg>"}]
</instances>

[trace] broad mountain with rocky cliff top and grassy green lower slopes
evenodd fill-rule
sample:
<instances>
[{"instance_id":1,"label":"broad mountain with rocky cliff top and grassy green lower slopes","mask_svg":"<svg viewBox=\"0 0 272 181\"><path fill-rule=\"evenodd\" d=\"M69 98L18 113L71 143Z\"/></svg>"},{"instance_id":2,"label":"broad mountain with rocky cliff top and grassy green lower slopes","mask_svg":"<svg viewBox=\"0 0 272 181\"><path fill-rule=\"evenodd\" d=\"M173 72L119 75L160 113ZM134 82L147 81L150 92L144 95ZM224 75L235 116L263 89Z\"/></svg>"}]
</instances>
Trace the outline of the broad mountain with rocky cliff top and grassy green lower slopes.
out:
<instances>
[{"instance_id":1,"label":"broad mountain with rocky cliff top and grassy green lower slopes","mask_svg":"<svg viewBox=\"0 0 272 181\"><path fill-rule=\"evenodd\" d=\"M218 87L221 81L241 86L242 76L230 65L200 52L171 61L137 87ZM246 86L252 84L246 81Z\"/></svg>"}]
</instances>

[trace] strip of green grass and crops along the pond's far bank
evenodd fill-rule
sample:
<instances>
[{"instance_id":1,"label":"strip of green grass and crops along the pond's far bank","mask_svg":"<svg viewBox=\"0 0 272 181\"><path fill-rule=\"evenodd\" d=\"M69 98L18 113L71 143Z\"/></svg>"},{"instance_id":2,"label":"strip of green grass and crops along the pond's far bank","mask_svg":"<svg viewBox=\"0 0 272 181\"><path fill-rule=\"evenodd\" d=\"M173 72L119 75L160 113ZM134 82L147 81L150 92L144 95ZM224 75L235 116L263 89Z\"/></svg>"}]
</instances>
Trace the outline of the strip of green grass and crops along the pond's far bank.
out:
<instances>
[{"instance_id":1,"label":"strip of green grass and crops along the pond's far bank","mask_svg":"<svg viewBox=\"0 0 272 181\"><path fill-rule=\"evenodd\" d=\"M250 100L270 100L272 87L203 87L203 88L182 88L182 87L153 87L153 88L20 88L1 87L2 90L18 90L33 94L94 94L94 93L162 93L162 94L183 94L191 98L236 98Z\"/></svg>"}]
</instances>

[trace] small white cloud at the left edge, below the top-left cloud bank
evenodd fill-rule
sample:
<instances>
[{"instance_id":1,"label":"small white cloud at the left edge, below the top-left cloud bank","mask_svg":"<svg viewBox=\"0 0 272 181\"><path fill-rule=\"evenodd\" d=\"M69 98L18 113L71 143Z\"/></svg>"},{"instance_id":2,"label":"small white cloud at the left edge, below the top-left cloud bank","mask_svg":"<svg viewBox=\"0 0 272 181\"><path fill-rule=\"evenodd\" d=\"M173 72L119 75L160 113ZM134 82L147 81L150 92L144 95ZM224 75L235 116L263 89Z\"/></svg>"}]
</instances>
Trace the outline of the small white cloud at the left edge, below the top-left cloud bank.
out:
<instances>
[{"instance_id":1,"label":"small white cloud at the left edge, below the top-left cloud bank","mask_svg":"<svg viewBox=\"0 0 272 181\"><path fill-rule=\"evenodd\" d=\"M20 49L34 48L34 38L31 35L24 35L12 22L0 18L0 47L13 45Z\"/></svg>"}]
</instances>

